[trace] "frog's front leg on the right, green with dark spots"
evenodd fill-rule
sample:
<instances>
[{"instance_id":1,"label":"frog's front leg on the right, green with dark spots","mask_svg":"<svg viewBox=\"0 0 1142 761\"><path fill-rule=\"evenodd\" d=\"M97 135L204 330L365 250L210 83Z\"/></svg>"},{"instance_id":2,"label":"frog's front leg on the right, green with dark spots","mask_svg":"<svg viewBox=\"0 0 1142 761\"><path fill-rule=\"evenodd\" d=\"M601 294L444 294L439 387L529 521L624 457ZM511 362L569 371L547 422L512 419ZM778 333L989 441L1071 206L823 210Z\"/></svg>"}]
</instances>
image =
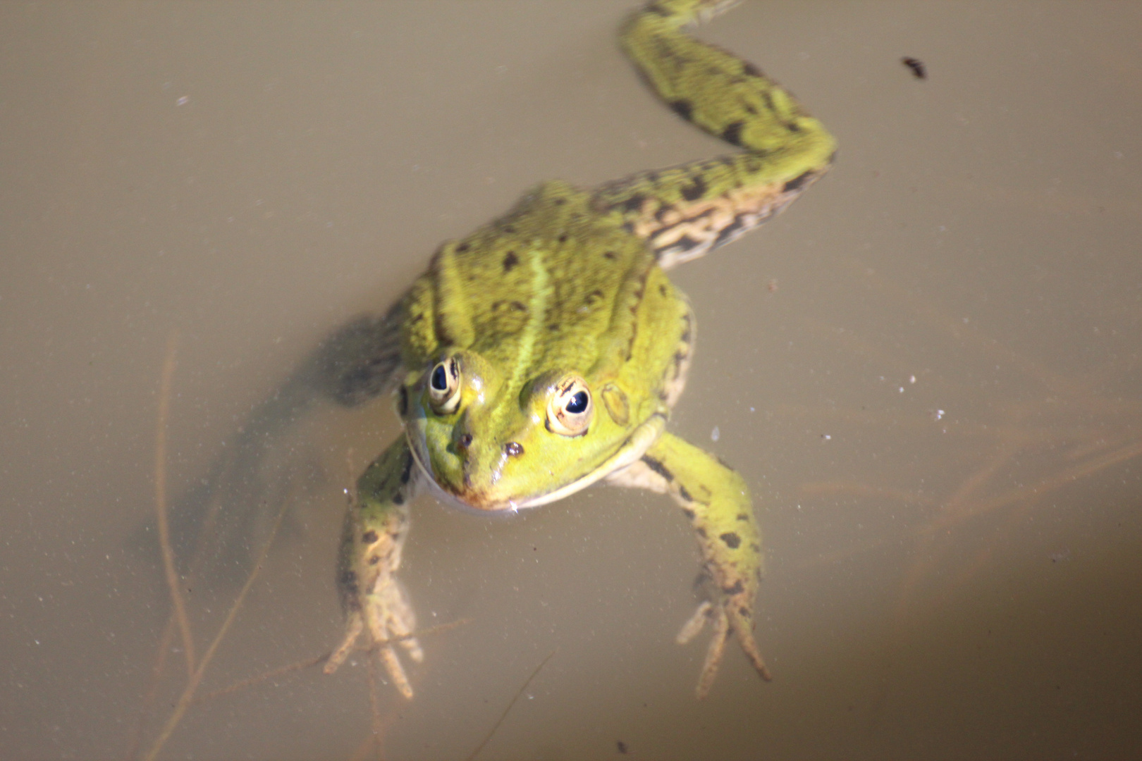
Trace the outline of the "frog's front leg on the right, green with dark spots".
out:
<instances>
[{"instance_id":1,"label":"frog's front leg on the right, green with dark spots","mask_svg":"<svg viewBox=\"0 0 1142 761\"><path fill-rule=\"evenodd\" d=\"M770 679L754 641L754 598L762 573L761 532L746 481L714 455L664 434L642 460L612 473L619 486L668 493L690 519L702 554L702 588L707 597L678 632L690 641L708 620L714 638L698 680L698 697L709 693L730 634L762 679Z\"/></svg>"}]
</instances>

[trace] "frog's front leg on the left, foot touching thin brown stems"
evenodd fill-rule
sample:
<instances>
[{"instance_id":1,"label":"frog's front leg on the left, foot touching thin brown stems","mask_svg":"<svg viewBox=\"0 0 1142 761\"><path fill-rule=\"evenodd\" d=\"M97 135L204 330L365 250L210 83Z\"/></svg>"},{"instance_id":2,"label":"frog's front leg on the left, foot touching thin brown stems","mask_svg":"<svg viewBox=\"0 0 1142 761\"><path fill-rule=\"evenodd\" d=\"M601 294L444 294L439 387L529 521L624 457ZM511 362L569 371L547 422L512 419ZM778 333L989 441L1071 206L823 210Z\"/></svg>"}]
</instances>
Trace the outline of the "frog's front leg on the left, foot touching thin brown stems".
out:
<instances>
[{"instance_id":1,"label":"frog's front leg on the left, foot touching thin brown stems","mask_svg":"<svg viewBox=\"0 0 1142 761\"><path fill-rule=\"evenodd\" d=\"M408 503L416 488L417 469L404 436L394 442L357 480L357 495L345 516L337 584L346 614L345 639L325 663L337 670L365 634L370 649L385 666L396 689L412 697L394 642L416 662L424 653L416 638L412 607L396 580L401 549L409 529Z\"/></svg>"}]
</instances>

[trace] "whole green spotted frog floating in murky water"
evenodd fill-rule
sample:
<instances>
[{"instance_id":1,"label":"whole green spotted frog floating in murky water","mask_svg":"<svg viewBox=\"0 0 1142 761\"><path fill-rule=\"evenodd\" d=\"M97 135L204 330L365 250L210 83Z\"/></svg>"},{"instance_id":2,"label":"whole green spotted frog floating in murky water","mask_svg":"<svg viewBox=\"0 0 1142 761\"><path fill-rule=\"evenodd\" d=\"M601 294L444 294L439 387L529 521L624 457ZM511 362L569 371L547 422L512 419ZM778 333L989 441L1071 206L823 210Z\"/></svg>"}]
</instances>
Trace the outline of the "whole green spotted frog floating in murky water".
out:
<instances>
[{"instance_id":1,"label":"whole green spotted frog floating in murky water","mask_svg":"<svg viewBox=\"0 0 1142 761\"><path fill-rule=\"evenodd\" d=\"M335 396L395 396L403 435L361 475L337 583L345 633L413 697L421 662L400 582L416 494L504 513L593 484L669 495L693 529L700 601L679 643L711 635L697 697L726 642L771 674L754 635L762 535L745 479L667 430L694 351L695 318L667 273L783 210L831 165L836 141L753 64L692 30L732 3L654 0L624 23L622 49L658 97L733 151L579 188L534 187L502 217L443 243L333 363ZM332 362L332 361L331 361Z\"/></svg>"}]
</instances>

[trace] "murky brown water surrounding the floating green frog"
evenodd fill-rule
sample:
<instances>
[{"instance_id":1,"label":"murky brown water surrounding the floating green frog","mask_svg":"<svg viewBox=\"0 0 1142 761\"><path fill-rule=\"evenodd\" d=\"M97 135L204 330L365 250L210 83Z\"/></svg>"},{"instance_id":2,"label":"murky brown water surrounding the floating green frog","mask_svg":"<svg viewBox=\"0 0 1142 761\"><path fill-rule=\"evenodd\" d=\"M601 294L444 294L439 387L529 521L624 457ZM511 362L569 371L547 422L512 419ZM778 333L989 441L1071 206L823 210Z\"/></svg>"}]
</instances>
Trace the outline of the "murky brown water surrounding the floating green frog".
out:
<instances>
[{"instance_id":1,"label":"murky brown water surrounding the floating green frog","mask_svg":"<svg viewBox=\"0 0 1142 761\"><path fill-rule=\"evenodd\" d=\"M536 181L721 149L620 58L628 5L0 6L0 755L128 753L172 334L180 547L227 508L199 655L290 508L202 693L337 641L343 489L392 413L257 405ZM732 651L693 699L666 499L426 497L404 577L424 625L471 623L424 639L412 703L381 689L385 758L466 758L553 651L481 758L1142 753L1142 5L751 2L703 35L842 145L675 273L701 341L673 426L758 497L775 679ZM144 752L185 679L176 648ZM162 758L349 759L371 721L359 659L195 704Z\"/></svg>"}]
</instances>

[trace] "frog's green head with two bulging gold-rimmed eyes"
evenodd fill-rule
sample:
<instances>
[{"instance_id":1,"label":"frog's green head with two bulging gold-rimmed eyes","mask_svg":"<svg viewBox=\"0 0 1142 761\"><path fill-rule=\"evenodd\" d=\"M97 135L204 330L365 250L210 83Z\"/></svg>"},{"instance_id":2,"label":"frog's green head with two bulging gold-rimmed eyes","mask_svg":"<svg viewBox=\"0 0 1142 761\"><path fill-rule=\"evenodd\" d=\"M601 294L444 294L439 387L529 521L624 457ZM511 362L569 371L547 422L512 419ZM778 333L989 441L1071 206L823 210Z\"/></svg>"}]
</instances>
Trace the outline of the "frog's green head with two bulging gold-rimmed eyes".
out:
<instances>
[{"instance_id":1,"label":"frog's green head with two bulging gold-rimmed eyes","mask_svg":"<svg viewBox=\"0 0 1142 761\"><path fill-rule=\"evenodd\" d=\"M411 375L401 397L421 469L477 510L516 510L571 494L641 458L665 423L634 420L614 381L600 386L556 370L508 383L467 350Z\"/></svg>"}]
</instances>

